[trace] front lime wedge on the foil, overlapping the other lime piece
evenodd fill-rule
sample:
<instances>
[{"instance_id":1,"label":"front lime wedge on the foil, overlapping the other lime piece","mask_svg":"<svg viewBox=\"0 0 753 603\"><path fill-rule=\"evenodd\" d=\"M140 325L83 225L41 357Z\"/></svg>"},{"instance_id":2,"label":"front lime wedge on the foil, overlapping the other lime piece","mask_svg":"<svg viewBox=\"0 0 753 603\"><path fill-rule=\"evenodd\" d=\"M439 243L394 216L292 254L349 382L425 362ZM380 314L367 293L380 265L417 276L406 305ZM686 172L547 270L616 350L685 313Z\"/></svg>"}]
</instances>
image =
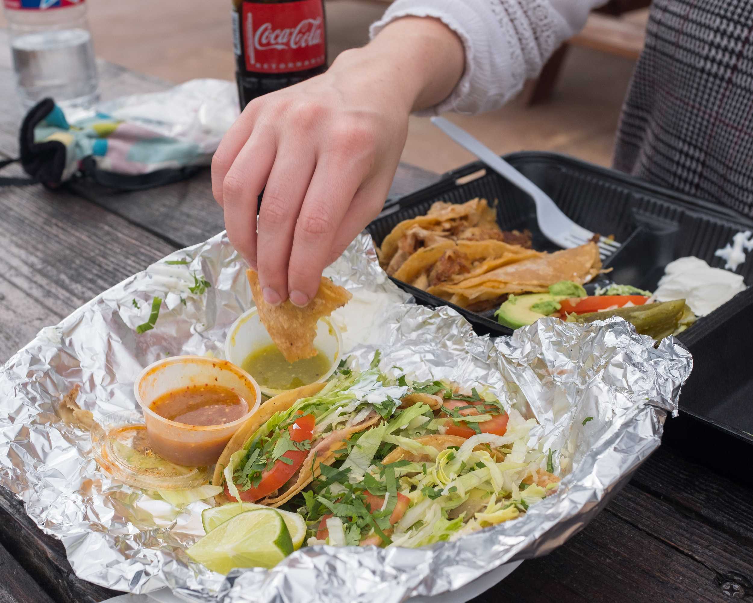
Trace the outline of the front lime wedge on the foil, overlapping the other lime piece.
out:
<instances>
[{"instance_id":1,"label":"front lime wedge on the foil, overlapping the other lime piece","mask_svg":"<svg viewBox=\"0 0 753 603\"><path fill-rule=\"evenodd\" d=\"M186 551L212 571L233 568L273 568L293 552L282 515L265 507L244 511L218 525Z\"/></svg>"}]
</instances>

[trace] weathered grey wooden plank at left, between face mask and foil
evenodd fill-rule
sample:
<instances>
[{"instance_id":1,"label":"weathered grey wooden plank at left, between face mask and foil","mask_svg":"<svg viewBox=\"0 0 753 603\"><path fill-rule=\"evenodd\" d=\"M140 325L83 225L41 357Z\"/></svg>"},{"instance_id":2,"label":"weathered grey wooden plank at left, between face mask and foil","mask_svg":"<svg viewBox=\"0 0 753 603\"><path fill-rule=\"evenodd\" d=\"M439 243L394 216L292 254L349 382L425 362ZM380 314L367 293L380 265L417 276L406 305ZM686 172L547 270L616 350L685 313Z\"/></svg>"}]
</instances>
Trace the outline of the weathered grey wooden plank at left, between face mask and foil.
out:
<instances>
[{"instance_id":1,"label":"weathered grey wooden plank at left, between face mask and foil","mask_svg":"<svg viewBox=\"0 0 753 603\"><path fill-rule=\"evenodd\" d=\"M6 297L0 303L9 317L14 315L3 329L2 360L32 338L43 321L57 323L175 249L62 191L5 191L0 194L0 215L0 292ZM26 306L29 300L31 308Z\"/></svg>"}]
</instances>

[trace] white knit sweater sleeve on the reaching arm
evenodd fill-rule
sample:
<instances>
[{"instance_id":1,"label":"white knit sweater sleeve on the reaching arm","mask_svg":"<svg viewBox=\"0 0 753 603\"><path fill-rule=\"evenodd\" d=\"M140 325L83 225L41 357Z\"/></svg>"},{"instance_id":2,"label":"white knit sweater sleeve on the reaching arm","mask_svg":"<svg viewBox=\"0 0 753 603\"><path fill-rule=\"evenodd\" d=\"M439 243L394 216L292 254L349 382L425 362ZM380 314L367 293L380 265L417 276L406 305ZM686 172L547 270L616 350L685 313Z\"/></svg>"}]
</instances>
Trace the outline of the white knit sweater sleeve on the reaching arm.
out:
<instances>
[{"instance_id":1,"label":"white knit sweater sleeve on the reaching arm","mask_svg":"<svg viewBox=\"0 0 753 603\"><path fill-rule=\"evenodd\" d=\"M397 0L381 20L377 35L400 17L435 17L465 47L465 71L453 93L425 110L480 113L515 96L535 78L559 44L578 32L589 11L605 0Z\"/></svg>"}]
</instances>

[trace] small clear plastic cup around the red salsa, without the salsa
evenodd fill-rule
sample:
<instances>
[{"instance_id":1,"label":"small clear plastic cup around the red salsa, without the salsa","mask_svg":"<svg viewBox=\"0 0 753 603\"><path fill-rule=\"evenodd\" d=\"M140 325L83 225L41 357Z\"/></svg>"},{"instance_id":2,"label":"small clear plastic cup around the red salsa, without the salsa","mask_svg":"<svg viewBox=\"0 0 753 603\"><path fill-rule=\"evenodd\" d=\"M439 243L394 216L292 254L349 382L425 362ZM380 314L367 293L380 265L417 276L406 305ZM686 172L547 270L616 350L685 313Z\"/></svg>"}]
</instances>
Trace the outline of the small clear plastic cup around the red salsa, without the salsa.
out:
<instances>
[{"instance_id":1,"label":"small clear plastic cup around the red salsa, without the salsa","mask_svg":"<svg viewBox=\"0 0 753 603\"><path fill-rule=\"evenodd\" d=\"M161 417L150 408L164 393L203 384L233 390L248 403L248 412L230 423L188 425ZM139 374L133 391L144 412L151 447L167 461L187 467L215 464L233 433L261 403L261 390L251 375L227 360L203 356L159 360Z\"/></svg>"}]
</instances>

